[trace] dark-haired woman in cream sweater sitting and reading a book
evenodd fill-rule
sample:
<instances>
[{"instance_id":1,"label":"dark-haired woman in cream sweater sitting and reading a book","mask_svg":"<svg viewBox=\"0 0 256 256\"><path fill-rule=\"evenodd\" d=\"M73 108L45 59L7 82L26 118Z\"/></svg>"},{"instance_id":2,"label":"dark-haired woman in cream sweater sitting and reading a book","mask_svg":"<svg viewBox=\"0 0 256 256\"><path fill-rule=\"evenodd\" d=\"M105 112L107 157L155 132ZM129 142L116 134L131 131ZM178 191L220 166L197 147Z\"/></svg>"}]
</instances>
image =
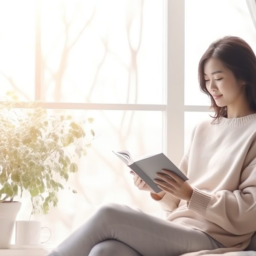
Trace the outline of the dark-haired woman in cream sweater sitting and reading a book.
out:
<instances>
[{"instance_id":1,"label":"dark-haired woman in cream sweater sitting and reading a book","mask_svg":"<svg viewBox=\"0 0 256 256\"><path fill-rule=\"evenodd\" d=\"M164 181L156 177L163 191L154 194L133 173L135 185L170 212L167 219L110 204L51 256L198 255L248 246L256 230L256 56L244 40L226 36L202 56L198 79L215 116L192 132L179 165L189 180L163 170L157 177Z\"/></svg>"}]
</instances>

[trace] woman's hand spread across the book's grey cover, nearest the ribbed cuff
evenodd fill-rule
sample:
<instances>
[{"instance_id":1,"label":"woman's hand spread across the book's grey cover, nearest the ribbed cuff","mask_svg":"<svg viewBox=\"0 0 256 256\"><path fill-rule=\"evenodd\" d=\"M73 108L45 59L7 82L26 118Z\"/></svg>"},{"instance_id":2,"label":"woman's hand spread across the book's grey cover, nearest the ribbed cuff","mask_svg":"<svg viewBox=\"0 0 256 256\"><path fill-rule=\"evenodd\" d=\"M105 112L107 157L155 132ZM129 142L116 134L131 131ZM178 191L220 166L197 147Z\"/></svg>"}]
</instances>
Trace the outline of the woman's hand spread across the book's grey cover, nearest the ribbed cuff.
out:
<instances>
[{"instance_id":1,"label":"woman's hand spread across the book's grey cover, nearest the ribbed cuff","mask_svg":"<svg viewBox=\"0 0 256 256\"><path fill-rule=\"evenodd\" d=\"M165 169L162 170L162 173L157 173L156 176L162 179L154 179L154 182L157 183L160 189L166 193L174 195L177 198L190 201L193 188L188 181L184 181L175 173Z\"/></svg>"}]
</instances>

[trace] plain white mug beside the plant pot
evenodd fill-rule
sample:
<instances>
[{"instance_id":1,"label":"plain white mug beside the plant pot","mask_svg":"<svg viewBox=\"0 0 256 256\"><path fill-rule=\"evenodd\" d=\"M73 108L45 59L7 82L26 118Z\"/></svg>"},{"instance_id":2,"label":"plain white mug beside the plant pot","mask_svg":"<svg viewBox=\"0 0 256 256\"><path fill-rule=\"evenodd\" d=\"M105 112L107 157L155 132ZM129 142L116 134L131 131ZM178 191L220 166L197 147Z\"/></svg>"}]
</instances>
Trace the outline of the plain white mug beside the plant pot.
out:
<instances>
[{"instance_id":1,"label":"plain white mug beside the plant pot","mask_svg":"<svg viewBox=\"0 0 256 256\"><path fill-rule=\"evenodd\" d=\"M47 241L41 242L41 230L44 228L49 230L49 238L52 232L49 227L41 227L41 221L15 221L15 244L16 245L39 245Z\"/></svg>"}]
</instances>

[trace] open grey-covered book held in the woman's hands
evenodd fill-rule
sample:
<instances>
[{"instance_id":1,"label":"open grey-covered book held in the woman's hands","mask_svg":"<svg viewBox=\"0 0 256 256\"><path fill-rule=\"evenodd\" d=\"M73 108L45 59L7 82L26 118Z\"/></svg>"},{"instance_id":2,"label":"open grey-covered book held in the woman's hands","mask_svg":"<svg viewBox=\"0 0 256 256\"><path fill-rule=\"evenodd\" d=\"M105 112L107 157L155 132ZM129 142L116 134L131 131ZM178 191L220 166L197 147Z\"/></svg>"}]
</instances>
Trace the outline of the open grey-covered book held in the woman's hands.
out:
<instances>
[{"instance_id":1,"label":"open grey-covered book held in the woman's hands","mask_svg":"<svg viewBox=\"0 0 256 256\"><path fill-rule=\"evenodd\" d=\"M180 171L180 169L166 157L165 154L155 154L147 157L143 157L140 160L134 161L131 158L131 154L128 151L117 151L114 152L128 167L130 167L154 192L159 193L162 191L154 179L160 179L155 176L157 172L161 172L162 169L167 169L174 172L183 180L188 180L186 175Z\"/></svg>"}]
</instances>

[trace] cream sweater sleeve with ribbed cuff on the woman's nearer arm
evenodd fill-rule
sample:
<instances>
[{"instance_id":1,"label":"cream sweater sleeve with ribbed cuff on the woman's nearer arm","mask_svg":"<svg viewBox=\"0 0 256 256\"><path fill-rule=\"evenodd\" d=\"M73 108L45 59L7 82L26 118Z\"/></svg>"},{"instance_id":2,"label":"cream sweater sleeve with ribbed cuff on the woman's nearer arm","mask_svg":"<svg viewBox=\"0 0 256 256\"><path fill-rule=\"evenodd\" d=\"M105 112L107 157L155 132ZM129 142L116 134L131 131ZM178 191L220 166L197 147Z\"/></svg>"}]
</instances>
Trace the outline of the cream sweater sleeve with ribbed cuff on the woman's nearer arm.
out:
<instances>
[{"instance_id":1,"label":"cream sweater sleeve with ribbed cuff on the woman's nearer arm","mask_svg":"<svg viewBox=\"0 0 256 256\"><path fill-rule=\"evenodd\" d=\"M208 193L194 188L187 204L193 210L224 230L243 235L256 230L256 164L241 173L237 190Z\"/></svg>"}]
</instances>

